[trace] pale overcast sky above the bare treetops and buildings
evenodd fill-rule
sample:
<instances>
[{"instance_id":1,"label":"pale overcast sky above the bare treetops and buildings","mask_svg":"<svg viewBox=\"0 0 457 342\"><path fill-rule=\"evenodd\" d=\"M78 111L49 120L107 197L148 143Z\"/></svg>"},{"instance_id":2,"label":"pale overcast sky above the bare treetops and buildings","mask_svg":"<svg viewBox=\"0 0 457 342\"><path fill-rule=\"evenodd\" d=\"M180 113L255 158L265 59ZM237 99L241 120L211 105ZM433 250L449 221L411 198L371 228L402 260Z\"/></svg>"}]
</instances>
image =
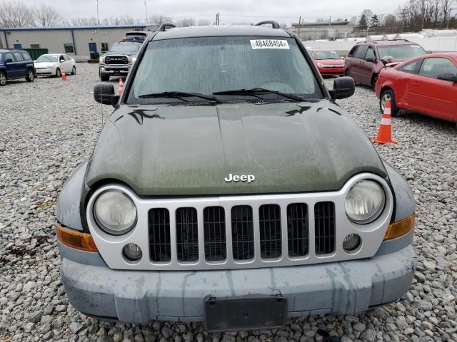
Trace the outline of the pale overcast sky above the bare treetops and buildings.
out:
<instances>
[{"instance_id":1,"label":"pale overcast sky above the bare treetops and buildings","mask_svg":"<svg viewBox=\"0 0 457 342\"><path fill-rule=\"evenodd\" d=\"M44 3L54 6L64 19L96 16L96 0L22 0L35 6ZM220 12L221 24L275 19L279 23L298 22L317 18L340 17L351 19L363 9L376 14L393 13L406 0L147 0L149 16L163 14L174 19L194 17L214 21ZM100 19L129 14L144 19L144 0L99 0ZM333 19L332 19L333 20Z\"/></svg>"}]
</instances>

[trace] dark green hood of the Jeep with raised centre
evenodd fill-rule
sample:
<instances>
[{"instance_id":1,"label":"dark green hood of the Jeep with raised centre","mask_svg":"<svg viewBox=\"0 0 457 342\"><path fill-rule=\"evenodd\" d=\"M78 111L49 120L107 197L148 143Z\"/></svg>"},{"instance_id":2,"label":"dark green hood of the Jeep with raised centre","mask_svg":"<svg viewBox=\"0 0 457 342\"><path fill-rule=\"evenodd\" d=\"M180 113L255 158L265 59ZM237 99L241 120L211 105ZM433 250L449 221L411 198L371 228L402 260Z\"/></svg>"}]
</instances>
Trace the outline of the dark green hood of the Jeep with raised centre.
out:
<instances>
[{"instance_id":1,"label":"dark green hood of the Jeep with raised centre","mask_svg":"<svg viewBox=\"0 0 457 342\"><path fill-rule=\"evenodd\" d=\"M229 195L338 190L386 170L338 107L318 103L122 105L106 123L86 185L124 182L138 195ZM254 182L226 182L254 175Z\"/></svg>"}]
</instances>

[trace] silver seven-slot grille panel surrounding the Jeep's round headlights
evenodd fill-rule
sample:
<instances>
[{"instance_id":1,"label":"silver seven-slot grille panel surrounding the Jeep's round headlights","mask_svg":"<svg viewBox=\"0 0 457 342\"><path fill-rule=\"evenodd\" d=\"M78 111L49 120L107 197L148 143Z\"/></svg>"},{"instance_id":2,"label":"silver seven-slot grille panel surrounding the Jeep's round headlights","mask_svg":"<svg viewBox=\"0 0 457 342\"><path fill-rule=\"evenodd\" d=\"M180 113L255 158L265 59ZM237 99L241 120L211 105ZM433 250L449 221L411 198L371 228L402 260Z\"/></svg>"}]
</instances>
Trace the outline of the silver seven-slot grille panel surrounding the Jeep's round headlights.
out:
<instances>
[{"instance_id":1,"label":"silver seven-slot grille panel surrounding the Jeep's round headlights","mask_svg":"<svg viewBox=\"0 0 457 342\"><path fill-rule=\"evenodd\" d=\"M348 192L362 179L378 182L387 196L381 216L363 226L351 222L344 209ZM128 234L106 234L96 223L94 203L106 190L134 200L138 217ZM91 195L86 212L91 236L111 269L250 269L373 257L391 222L393 196L387 182L371 173L351 177L338 191L270 195L145 198L108 184ZM363 241L356 254L343 250L348 234ZM124 258L129 243L143 251L136 263Z\"/></svg>"}]
</instances>

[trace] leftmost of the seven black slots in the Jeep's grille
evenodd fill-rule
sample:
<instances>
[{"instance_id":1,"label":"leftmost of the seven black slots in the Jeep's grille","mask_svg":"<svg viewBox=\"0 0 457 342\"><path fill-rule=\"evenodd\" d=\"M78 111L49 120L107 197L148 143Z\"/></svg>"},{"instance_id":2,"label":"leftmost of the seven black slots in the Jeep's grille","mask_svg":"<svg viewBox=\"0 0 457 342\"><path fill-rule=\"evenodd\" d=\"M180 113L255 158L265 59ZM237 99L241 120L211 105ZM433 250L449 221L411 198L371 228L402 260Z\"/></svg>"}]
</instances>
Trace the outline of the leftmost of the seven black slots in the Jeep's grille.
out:
<instances>
[{"instance_id":1,"label":"leftmost of the seven black slots in the Jeep's grille","mask_svg":"<svg viewBox=\"0 0 457 342\"><path fill-rule=\"evenodd\" d=\"M149 210L149 255L152 261L171 260L170 213L168 209Z\"/></svg>"}]
</instances>

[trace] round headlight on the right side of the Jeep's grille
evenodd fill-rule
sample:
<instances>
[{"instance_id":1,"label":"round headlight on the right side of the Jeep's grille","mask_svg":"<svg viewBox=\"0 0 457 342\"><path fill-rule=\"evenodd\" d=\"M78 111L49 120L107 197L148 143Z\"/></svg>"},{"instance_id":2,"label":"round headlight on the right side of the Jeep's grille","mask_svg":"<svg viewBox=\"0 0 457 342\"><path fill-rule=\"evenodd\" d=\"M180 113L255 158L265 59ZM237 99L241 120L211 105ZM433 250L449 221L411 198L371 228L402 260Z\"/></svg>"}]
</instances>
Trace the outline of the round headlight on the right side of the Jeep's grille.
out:
<instances>
[{"instance_id":1,"label":"round headlight on the right side of the Jeep's grille","mask_svg":"<svg viewBox=\"0 0 457 342\"><path fill-rule=\"evenodd\" d=\"M349 190L344 208L353 222L366 224L379 217L385 203L386 194L378 182L361 180Z\"/></svg>"}]
</instances>

